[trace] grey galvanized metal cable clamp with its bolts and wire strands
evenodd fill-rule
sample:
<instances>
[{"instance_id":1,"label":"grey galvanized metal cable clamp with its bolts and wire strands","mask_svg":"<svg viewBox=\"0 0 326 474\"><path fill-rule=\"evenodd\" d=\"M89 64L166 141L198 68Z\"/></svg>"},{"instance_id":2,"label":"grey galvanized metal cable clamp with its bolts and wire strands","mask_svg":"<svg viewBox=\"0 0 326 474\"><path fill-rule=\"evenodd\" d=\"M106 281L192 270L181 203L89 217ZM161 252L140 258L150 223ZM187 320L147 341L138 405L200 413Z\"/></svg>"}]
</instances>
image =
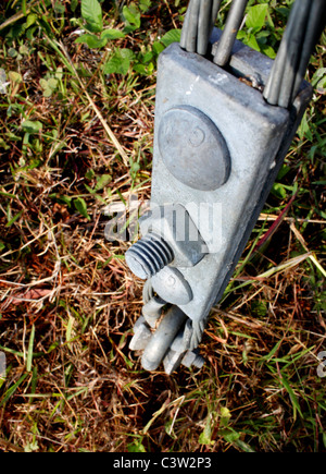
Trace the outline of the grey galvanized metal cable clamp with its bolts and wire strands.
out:
<instances>
[{"instance_id":1,"label":"grey galvanized metal cable clamp with its bolts and wire strands","mask_svg":"<svg viewBox=\"0 0 326 474\"><path fill-rule=\"evenodd\" d=\"M312 97L303 75L326 2L296 1L275 61L235 39L247 1L233 1L223 32L213 28L220 4L191 0L180 45L159 59L151 210L126 253L147 280L130 342L147 370L202 367L210 311Z\"/></svg>"}]
</instances>

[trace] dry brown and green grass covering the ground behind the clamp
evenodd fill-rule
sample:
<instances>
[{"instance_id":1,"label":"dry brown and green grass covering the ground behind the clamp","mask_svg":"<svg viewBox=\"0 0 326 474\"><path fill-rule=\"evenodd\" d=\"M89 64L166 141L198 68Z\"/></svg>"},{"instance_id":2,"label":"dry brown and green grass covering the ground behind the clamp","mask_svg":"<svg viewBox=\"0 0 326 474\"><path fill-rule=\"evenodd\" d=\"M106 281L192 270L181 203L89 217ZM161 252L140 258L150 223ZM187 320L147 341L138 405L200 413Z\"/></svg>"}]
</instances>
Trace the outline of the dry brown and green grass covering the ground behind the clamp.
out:
<instances>
[{"instance_id":1,"label":"dry brown and green grass covering the ground behind the clamp","mask_svg":"<svg viewBox=\"0 0 326 474\"><path fill-rule=\"evenodd\" d=\"M187 1L112 3L98 23L78 1L0 7L0 450L325 452L325 35L208 363L168 377L128 350L142 284L104 209L150 196L156 58ZM240 36L273 57L289 2L256 3Z\"/></svg>"}]
</instances>

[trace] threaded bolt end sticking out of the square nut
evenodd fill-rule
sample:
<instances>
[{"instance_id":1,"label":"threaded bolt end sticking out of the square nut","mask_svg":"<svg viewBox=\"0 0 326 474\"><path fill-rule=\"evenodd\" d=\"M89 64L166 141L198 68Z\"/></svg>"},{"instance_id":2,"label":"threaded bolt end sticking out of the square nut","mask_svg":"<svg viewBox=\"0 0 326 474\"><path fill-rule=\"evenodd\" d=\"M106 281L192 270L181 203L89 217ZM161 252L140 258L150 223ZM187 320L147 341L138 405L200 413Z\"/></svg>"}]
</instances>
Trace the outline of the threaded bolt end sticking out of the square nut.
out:
<instances>
[{"instance_id":1,"label":"threaded bolt end sticking out of the square nut","mask_svg":"<svg viewBox=\"0 0 326 474\"><path fill-rule=\"evenodd\" d=\"M126 263L142 280L156 275L171 264L174 254L167 243L155 233L148 233L126 252Z\"/></svg>"}]
</instances>

